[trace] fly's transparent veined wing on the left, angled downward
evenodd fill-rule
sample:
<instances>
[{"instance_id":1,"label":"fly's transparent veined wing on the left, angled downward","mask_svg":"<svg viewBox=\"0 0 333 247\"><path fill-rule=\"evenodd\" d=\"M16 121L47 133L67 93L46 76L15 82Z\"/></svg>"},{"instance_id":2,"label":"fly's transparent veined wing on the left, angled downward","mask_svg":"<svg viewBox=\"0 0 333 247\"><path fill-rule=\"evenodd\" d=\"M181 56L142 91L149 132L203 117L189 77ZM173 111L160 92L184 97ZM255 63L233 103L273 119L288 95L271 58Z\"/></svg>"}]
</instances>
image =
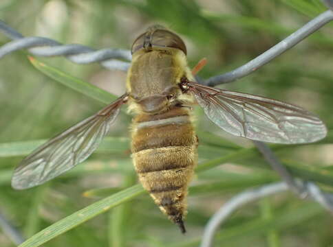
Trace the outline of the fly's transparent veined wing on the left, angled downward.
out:
<instances>
[{"instance_id":1,"label":"fly's transparent veined wing on the left, angled downward","mask_svg":"<svg viewBox=\"0 0 333 247\"><path fill-rule=\"evenodd\" d=\"M95 115L65 130L25 157L14 170L12 187L27 189L41 185L85 161L109 132L120 106L125 103L125 97L122 95Z\"/></svg>"}]
</instances>

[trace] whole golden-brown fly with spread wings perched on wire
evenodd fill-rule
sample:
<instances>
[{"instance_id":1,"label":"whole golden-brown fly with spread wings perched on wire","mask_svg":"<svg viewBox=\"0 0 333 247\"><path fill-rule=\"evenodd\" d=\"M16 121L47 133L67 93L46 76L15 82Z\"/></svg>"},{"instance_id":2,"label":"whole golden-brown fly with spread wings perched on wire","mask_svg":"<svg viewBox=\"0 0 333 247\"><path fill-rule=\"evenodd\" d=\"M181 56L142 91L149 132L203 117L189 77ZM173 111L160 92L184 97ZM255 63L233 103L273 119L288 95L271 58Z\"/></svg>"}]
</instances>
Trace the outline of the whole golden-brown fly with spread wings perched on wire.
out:
<instances>
[{"instance_id":1,"label":"whole golden-brown fly with spread wings perched on wire","mask_svg":"<svg viewBox=\"0 0 333 247\"><path fill-rule=\"evenodd\" d=\"M247 139L310 143L326 135L323 122L298 106L197 84L184 42L164 27L149 27L134 41L131 53L127 92L24 158L14 170L14 189L41 185L85 161L127 103L134 115L131 152L138 178L185 233L187 187L198 145L189 106L199 104L219 128Z\"/></svg>"}]
</instances>

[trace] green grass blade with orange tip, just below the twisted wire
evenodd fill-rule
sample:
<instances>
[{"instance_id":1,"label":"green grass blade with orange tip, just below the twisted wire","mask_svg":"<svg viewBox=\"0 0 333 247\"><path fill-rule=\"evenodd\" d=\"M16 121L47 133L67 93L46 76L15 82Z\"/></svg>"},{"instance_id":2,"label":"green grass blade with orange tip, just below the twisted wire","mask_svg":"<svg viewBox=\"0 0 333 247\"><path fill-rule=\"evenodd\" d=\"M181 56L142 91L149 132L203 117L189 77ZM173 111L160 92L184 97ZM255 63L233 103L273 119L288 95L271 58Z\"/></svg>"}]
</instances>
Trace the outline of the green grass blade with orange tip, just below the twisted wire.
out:
<instances>
[{"instance_id":1,"label":"green grass blade with orange tip, just below the twisted wire","mask_svg":"<svg viewBox=\"0 0 333 247\"><path fill-rule=\"evenodd\" d=\"M92 99L96 99L99 102L109 104L118 98L115 95L112 95L111 93L98 88L97 86L89 84L88 82L84 82L83 80L75 78L72 75L68 75L67 73L64 73L63 71L60 71L48 64L40 62L31 56L29 57L29 60L32 65L34 65L34 67L41 71L43 74L65 86L68 86L71 89L74 89L75 91L78 91L79 93L82 93L83 95L87 95Z\"/></svg>"}]
</instances>

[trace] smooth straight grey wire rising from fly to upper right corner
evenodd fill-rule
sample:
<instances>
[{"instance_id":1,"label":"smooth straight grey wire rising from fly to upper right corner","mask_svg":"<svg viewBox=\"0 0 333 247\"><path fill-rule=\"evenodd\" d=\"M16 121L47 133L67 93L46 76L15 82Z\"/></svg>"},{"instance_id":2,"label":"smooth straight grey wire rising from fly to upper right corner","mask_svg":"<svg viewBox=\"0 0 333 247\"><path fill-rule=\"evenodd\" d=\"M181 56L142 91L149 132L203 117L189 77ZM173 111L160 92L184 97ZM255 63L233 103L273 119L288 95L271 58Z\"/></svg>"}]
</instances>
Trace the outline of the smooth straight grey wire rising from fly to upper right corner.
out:
<instances>
[{"instance_id":1,"label":"smooth straight grey wire rising from fly to upper right corner","mask_svg":"<svg viewBox=\"0 0 333 247\"><path fill-rule=\"evenodd\" d=\"M330 1L330 3L332 4L332 0ZM294 45L297 45L297 43L301 42L301 40L308 37L316 30L319 30L319 28L323 27L323 25L329 23L332 20L333 20L332 10L327 10L323 12L323 14L320 14L312 21L309 21L299 30L290 34L290 36L282 40L280 43L277 43L277 45L268 49L260 56L257 56L257 58L250 60L250 62L244 64L243 66L233 71L224 73L222 75L215 75L211 78L208 78L205 84L208 86L217 86L219 84L233 82L239 78L243 78L244 76L250 73L253 73L260 67L264 66L266 63L270 62L277 56L281 55L283 52L294 47Z\"/></svg>"}]
</instances>

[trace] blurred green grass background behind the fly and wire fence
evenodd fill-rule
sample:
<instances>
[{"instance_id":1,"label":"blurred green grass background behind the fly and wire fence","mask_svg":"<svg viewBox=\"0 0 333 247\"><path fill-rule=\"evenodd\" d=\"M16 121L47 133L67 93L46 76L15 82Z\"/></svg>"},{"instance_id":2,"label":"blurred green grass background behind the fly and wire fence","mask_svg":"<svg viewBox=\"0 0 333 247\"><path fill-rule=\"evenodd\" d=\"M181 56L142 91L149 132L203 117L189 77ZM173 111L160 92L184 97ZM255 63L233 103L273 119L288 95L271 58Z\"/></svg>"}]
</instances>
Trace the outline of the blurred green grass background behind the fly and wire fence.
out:
<instances>
[{"instance_id":1,"label":"blurred green grass background behind the fly and wire fence","mask_svg":"<svg viewBox=\"0 0 333 247\"><path fill-rule=\"evenodd\" d=\"M165 25L184 38L191 67L208 59L202 78L241 66L323 11L319 0L0 1L0 19L23 35L96 49L129 49L148 25ZM252 75L223 86L297 104L323 119L330 130L323 141L272 148L294 176L326 191L333 186L332 27L326 25ZM0 45L7 42L0 34ZM54 136L105 105L36 70L26 55L17 51L0 60L0 211L28 238L98 198L136 184L136 174L129 159L131 116L122 113L109 143L73 171L26 191L10 187L12 169L40 143L36 140ZM38 59L114 95L125 91L122 71L64 58ZM250 141L223 133L200 109L195 112L200 163L224 162L195 176L186 235L144 193L43 246L198 246L207 220L226 200L279 180ZM216 246L333 246L332 222L318 204L283 193L237 211L219 230ZM0 246L14 246L1 229Z\"/></svg>"}]
</instances>

